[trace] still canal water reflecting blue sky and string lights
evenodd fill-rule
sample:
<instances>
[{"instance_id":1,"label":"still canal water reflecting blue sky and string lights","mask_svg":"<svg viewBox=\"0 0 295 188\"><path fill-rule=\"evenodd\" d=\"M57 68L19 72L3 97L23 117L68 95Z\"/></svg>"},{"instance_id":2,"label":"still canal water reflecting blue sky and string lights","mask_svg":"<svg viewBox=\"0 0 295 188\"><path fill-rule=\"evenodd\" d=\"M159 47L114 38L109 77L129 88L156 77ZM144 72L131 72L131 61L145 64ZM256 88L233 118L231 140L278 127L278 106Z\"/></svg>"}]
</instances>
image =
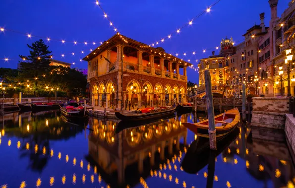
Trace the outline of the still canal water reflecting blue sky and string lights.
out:
<instances>
[{"instance_id":1,"label":"still canal water reflecting blue sky and string lights","mask_svg":"<svg viewBox=\"0 0 295 188\"><path fill-rule=\"evenodd\" d=\"M294 187L283 132L239 123L211 152L207 138L182 125L203 119L189 113L132 128L118 120L69 121L59 111L2 115L0 187Z\"/></svg>"}]
</instances>

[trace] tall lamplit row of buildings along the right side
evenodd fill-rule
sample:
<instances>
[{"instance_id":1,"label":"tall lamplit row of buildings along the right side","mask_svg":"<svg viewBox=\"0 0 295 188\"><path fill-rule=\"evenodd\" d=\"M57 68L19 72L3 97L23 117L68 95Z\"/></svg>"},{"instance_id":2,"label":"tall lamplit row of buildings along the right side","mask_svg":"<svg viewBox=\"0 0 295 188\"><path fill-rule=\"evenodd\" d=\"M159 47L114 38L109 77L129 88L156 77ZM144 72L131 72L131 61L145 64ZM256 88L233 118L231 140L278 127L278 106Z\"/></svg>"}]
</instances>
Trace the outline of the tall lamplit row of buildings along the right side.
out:
<instances>
[{"instance_id":1,"label":"tall lamplit row of buildings along the right side","mask_svg":"<svg viewBox=\"0 0 295 188\"><path fill-rule=\"evenodd\" d=\"M247 94L272 97L288 94L286 49L294 49L295 3L292 0L281 18L277 17L278 0L269 0L271 9L270 27L260 14L260 25L254 25L243 35L243 42L235 45L233 39L222 39L220 52L201 59L199 63L199 85L204 87L204 70L211 73L212 86L226 96L242 95L242 84ZM294 51L294 50L292 50ZM293 53L293 52L292 52ZM279 68L283 67L282 74ZM291 95L295 91L294 63L290 61ZM282 75L282 76L281 76ZM292 79L294 78L294 79Z\"/></svg>"}]
</instances>

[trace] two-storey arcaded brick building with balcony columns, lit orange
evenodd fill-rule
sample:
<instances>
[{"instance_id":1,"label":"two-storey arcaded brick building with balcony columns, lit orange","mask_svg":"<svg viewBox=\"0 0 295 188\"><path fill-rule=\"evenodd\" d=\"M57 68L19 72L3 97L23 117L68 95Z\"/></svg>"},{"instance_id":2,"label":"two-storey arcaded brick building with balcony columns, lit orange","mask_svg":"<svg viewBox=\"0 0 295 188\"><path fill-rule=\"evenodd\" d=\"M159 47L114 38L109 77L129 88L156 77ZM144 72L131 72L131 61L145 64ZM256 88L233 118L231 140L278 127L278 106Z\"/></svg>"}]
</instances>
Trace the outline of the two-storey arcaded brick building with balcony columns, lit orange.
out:
<instances>
[{"instance_id":1,"label":"two-storey arcaded brick building with balcony columns, lit orange","mask_svg":"<svg viewBox=\"0 0 295 188\"><path fill-rule=\"evenodd\" d=\"M88 62L91 103L141 108L185 102L191 64L161 47L116 34L83 60ZM180 74L180 73L183 74Z\"/></svg>"}]
</instances>

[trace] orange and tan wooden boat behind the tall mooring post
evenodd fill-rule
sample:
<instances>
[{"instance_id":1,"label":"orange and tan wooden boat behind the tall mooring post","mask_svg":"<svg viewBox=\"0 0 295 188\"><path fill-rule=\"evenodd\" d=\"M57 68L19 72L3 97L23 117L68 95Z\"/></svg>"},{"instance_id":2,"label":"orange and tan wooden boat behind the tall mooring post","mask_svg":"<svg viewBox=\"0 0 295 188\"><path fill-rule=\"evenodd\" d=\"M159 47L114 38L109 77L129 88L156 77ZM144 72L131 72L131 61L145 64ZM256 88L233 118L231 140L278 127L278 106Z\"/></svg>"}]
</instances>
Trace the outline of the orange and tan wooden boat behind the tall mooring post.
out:
<instances>
[{"instance_id":1,"label":"orange and tan wooden boat behind the tall mooring post","mask_svg":"<svg viewBox=\"0 0 295 188\"><path fill-rule=\"evenodd\" d=\"M219 114L215 118L216 137L221 137L230 133L237 125L240 120L240 112L238 108L231 109L222 114ZM183 123L185 127L190 129L195 134L203 137L209 137L209 120L198 123Z\"/></svg>"}]
</instances>

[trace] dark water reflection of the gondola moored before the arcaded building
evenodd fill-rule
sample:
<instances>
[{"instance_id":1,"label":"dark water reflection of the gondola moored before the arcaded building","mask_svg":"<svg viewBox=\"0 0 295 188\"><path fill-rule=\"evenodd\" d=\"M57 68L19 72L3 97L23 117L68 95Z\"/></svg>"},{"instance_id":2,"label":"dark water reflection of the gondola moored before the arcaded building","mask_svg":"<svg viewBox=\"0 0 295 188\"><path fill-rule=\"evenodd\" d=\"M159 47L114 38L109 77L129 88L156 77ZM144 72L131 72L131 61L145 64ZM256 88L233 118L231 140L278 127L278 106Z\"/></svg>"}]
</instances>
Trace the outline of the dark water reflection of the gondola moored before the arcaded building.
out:
<instances>
[{"instance_id":1,"label":"dark water reflection of the gondola moored before the arcaded building","mask_svg":"<svg viewBox=\"0 0 295 188\"><path fill-rule=\"evenodd\" d=\"M149 124L154 125L154 124L161 123L161 122L163 122L167 119L171 119L171 118L175 118L175 114L172 114L172 115L168 114L166 116L162 116L161 119L149 119L149 120L140 121L140 122L137 122L137 121L130 122L130 121L122 120L116 126L115 132L117 134L117 133L120 133L121 131L123 131L124 129L132 128L132 127L139 127L139 126L149 125Z\"/></svg>"}]
</instances>

